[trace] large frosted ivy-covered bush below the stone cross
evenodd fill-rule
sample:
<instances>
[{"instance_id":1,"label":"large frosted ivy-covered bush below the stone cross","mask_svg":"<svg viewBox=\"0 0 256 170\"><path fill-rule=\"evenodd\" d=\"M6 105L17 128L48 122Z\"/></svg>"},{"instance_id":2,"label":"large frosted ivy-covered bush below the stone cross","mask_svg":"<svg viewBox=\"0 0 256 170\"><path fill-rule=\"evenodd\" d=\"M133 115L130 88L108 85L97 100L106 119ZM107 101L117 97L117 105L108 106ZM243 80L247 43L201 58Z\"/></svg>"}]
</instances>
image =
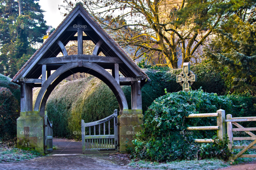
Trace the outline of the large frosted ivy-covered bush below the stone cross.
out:
<instances>
[{"instance_id":1,"label":"large frosted ivy-covered bush below the stone cross","mask_svg":"<svg viewBox=\"0 0 256 170\"><path fill-rule=\"evenodd\" d=\"M219 157L227 159L226 145L198 144L195 139L214 139L217 131L187 131L190 126L216 126L216 118L185 119L189 114L213 113L219 109L226 114L243 115L245 104L234 105L234 96L218 96L199 89L173 92L163 95L152 103L145 112L142 131L133 140L133 157L151 161L172 161L197 157Z\"/></svg>"}]
</instances>

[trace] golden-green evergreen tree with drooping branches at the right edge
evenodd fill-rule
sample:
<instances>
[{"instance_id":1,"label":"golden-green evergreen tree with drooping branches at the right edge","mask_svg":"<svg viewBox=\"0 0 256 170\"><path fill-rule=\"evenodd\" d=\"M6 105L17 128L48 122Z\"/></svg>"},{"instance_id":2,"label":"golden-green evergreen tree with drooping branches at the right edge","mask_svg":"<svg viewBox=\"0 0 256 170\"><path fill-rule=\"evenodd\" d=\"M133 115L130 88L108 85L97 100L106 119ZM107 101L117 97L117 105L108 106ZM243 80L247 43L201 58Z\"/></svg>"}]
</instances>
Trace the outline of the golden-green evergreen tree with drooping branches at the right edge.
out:
<instances>
[{"instance_id":1,"label":"golden-green evergreen tree with drooping branches at the right edge","mask_svg":"<svg viewBox=\"0 0 256 170\"><path fill-rule=\"evenodd\" d=\"M256 23L251 21L234 15L229 22L234 25L215 29L216 37L205 51L216 71L225 72L230 92L256 95Z\"/></svg>"}]
</instances>

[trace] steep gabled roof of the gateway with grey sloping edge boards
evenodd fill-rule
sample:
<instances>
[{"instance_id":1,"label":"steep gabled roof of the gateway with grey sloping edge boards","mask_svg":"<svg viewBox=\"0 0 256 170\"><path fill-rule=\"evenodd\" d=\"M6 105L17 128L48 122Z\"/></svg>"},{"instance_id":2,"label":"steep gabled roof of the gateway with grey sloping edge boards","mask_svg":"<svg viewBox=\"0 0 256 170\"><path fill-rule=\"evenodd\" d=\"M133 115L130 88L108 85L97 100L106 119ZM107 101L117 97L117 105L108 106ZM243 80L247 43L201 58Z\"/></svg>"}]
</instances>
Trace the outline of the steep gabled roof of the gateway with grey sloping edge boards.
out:
<instances>
[{"instance_id":1,"label":"steep gabled roof of the gateway with grey sloping edge boards","mask_svg":"<svg viewBox=\"0 0 256 170\"><path fill-rule=\"evenodd\" d=\"M106 33L105 30L95 21L95 19L86 11L82 6L82 3L77 5L70 11L61 24L53 31L53 33L47 38L40 48L31 56L26 64L18 71L18 73L12 79L12 82L16 82L20 77L26 78L38 78L41 75L41 69L37 66L37 63L43 58L56 57L61 49L59 48L57 41L62 40L64 46L69 42L67 37L74 36L76 31L64 33L66 29L73 25L75 19L78 17L83 18L83 23L93 29L93 31L86 32L86 35L92 38L92 41L96 44L99 39L103 40L101 50L103 54L111 57L118 57L122 60L123 64L119 64L119 71L126 77L142 75L144 79L148 78L147 74L141 70L135 64L135 62L126 54L126 52ZM148 78L149 79L149 78Z\"/></svg>"}]
</instances>

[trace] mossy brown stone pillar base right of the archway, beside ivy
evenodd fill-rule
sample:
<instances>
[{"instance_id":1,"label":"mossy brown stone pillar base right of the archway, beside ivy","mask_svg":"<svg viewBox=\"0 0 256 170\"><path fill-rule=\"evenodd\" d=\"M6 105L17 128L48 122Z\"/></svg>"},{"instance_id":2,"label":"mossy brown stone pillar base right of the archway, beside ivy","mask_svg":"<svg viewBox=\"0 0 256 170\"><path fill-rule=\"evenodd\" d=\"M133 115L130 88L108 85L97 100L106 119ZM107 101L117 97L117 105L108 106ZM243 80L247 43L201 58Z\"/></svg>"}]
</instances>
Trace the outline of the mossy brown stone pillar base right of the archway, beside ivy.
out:
<instances>
[{"instance_id":1,"label":"mossy brown stone pillar base right of the archway, beside ivy","mask_svg":"<svg viewBox=\"0 0 256 170\"><path fill-rule=\"evenodd\" d=\"M133 147L132 140L135 134L141 131L143 123L142 110L123 110L122 115L118 116L119 122L119 144L120 152L126 152L125 149Z\"/></svg>"}]
</instances>

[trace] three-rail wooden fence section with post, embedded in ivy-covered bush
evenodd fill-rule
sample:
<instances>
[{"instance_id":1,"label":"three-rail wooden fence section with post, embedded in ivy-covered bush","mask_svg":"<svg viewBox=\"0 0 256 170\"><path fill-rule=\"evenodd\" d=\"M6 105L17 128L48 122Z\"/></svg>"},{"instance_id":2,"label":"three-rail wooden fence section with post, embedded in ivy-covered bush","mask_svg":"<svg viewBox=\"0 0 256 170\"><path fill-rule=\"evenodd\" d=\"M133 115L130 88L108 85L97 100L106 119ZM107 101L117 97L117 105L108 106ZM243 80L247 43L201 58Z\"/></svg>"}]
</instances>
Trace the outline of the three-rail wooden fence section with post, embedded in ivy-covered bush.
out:
<instances>
[{"instance_id":1,"label":"three-rail wooden fence section with post, embedded in ivy-covered bush","mask_svg":"<svg viewBox=\"0 0 256 170\"><path fill-rule=\"evenodd\" d=\"M217 110L217 113L202 113L202 114L190 114L185 118L210 118L217 117L217 126L197 126L197 127L188 127L187 130L217 130L217 136L219 141L223 141L226 136L225 128L225 110ZM212 139L195 139L197 143L211 143L216 142Z\"/></svg>"}]
</instances>

